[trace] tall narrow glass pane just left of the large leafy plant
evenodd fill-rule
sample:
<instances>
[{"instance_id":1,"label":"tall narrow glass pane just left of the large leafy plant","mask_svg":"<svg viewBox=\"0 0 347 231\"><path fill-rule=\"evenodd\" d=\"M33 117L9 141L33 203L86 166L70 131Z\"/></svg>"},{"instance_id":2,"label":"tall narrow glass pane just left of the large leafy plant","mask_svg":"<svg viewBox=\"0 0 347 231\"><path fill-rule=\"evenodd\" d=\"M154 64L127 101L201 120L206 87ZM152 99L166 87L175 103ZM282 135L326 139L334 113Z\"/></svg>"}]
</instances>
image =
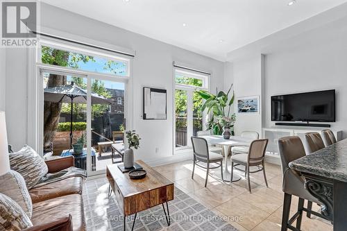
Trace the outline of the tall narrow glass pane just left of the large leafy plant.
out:
<instances>
[{"instance_id":1,"label":"tall narrow glass pane just left of the large leafy plant","mask_svg":"<svg viewBox=\"0 0 347 231\"><path fill-rule=\"evenodd\" d=\"M175 91L176 148L187 146L187 91Z\"/></svg>"}]
</instances>

